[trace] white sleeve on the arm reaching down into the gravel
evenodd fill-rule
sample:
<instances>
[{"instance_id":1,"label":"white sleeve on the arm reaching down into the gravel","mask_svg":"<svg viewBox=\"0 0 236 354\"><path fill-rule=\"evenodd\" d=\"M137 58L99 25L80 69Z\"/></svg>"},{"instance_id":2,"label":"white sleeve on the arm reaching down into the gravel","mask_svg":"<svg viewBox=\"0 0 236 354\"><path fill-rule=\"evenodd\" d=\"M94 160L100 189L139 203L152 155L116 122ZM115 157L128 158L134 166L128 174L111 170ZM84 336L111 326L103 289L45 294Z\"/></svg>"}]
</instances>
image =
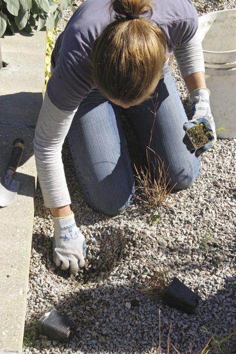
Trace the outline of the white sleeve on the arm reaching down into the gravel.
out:
<instances>
[{"instance_id":1,"label":"white sleeve on the arm reaching down into the gravel","mask_svg":"<svg viewBox=\"0 0 236 354\"><path fill-rule=\"evenodd\" d=\"M71 203L61 150L75 112L58 109L45 94L33 144L38 180L47 208Z\"/></svg>"}]
</instances>

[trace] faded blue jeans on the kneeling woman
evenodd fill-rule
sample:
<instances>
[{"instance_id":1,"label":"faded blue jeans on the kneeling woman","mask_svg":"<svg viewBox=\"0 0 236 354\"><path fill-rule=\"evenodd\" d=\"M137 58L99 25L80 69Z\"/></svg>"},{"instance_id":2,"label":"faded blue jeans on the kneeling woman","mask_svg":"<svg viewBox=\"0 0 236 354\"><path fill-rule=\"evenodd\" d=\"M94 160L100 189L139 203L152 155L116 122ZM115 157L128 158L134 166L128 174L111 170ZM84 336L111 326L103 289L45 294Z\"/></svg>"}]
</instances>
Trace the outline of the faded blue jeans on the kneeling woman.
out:
<instances>
[{"instance_id":1,"label":"faded blue jeans on the kneeling woman","mask_svg":"<svg viewBox=\"0 0 236 354\"><path fill-rule=\"evenodd\" d=\"M129 120L145 153L153 127L150 147L165 168L169 166L170 185L177 183L175 189L186 189L199 176L200 158L191 154L183 143L183 125L188 119L168 64L153 96L124 110L93 90L80 104L68 140L81 191L92 209L116 215L134 197L134 177L121 128L121 113Z\"/></svg>"}]
</instances>

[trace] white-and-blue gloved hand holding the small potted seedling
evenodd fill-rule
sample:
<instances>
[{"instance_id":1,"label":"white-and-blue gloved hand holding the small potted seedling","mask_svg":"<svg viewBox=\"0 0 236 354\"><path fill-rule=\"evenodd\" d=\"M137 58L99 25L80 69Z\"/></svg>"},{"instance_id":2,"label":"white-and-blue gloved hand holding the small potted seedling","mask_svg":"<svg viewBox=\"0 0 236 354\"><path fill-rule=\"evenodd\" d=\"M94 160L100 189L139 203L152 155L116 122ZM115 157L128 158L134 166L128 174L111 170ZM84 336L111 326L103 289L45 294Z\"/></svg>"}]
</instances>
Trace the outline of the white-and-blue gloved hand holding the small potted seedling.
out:
<instances>
[{"instance_id":1,"label":"white-and-blue gloved hand holding the small potted seedling","mask_svg":"<svg viewBox=\"0 0 236 354\"><path fill-rule=\"evenodd\" d=\"M207 125L207 128L210 130L210 133L213 137L213 139L207 144L200 147L196 151L194 150L196 156L200 156L203 152L209 150L215 144L217 139L216 127L211 113L209 96L210 91L208 89L197 89L190 94L190 100L192 102L192 119L184 123L184 130L192 128L197 123L203 121ZM192 150L187 143L186 146L189 150Z\"/></svg>"}]
</instances>

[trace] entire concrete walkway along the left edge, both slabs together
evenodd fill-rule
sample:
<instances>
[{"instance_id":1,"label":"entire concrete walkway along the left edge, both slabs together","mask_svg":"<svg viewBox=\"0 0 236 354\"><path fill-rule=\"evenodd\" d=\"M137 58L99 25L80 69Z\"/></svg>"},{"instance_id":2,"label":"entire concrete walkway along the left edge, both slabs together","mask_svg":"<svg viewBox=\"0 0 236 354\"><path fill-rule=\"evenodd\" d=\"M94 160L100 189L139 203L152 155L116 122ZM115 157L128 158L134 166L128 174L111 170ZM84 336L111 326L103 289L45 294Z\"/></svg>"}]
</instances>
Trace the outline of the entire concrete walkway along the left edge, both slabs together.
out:
<instances>
[{"instance_id":1,"label":"entire concrete walkway along the left edge, both slabs together","mask_svg":"<svg viewBox=\"0 0 236 354\"><path fill-rule=\"evenodd\" d=\"M45 37L37 32L0 38L3 61L10 63L0 70L0 176L13 140L25 140L14 177L21 181L19 191L0 208L0 354L22 351L36 183L32 141L42 104Z\"/></svg>"}]
</instances>

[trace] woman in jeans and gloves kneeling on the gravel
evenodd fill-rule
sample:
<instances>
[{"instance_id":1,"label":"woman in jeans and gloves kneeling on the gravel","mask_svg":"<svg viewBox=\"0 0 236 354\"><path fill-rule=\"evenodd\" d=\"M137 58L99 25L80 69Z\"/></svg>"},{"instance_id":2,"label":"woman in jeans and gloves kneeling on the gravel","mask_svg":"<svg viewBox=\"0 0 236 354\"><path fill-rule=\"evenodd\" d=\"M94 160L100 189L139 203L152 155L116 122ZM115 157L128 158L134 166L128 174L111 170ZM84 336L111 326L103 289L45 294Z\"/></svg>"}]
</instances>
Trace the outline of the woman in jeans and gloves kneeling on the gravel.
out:
<instances>
[{"instance_id":1,"label":"woman in jeans and gloves kneeling on the gravel","mask_svg":"<svg viewBox=\"0 0 236 354\"><path fill-rule=\"evenodd\" d=\"M188 119L168 65L173 51L190 93L191 121L206 118L215 140L197 27L190 0L86 0L57 39L34 151L54 222L54 261L62 269L76 274L86 255L61 159L66 136L87 203L108 215L134 196L121 114L144 150L152 131L150 147L169 166L175 188L188 188L200 174L199 155L209 146L190 153L183 143Z\"/></svg>"}]
</instances>

